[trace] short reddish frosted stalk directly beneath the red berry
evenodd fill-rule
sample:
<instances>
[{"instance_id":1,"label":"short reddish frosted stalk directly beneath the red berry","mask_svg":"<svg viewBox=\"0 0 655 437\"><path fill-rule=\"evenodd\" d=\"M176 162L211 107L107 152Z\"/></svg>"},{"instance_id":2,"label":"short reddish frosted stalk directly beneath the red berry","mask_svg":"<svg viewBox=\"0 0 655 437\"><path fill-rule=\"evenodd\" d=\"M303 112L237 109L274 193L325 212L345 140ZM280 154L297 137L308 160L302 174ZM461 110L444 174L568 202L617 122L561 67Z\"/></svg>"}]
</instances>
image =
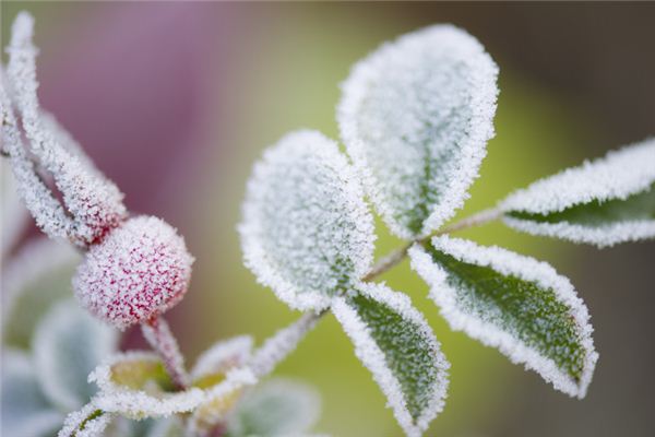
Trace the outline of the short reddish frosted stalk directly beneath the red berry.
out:
<instances>
[{"instance_id":1,"label":"short reddish frosted stalk directly beneath the red berry","mask_svg":"<svg viewBox=\"0 0 655 437\"><path fill-rule=\"evenodd\" d=\"M184 357L180 353L178 342L166 320L160 316L155 316L141 323L141 330L145 340L162 357L172 383L178 390L184 390L189 385L189 376L184 370Z\"/></svg>"}]
</instances>

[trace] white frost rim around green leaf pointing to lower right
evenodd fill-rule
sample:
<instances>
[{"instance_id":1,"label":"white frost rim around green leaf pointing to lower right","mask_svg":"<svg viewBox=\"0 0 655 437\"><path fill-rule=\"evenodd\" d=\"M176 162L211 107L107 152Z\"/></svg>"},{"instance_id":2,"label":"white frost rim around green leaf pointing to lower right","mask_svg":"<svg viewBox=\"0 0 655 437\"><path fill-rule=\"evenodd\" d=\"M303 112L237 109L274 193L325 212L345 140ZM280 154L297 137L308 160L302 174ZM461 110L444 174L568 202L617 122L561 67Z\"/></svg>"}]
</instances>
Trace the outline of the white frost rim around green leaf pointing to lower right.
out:
<instances>
[{"instance_id":1,"label":"white frost rim around green leaf pointing to lower right","mask_svg":"<svg viewBox=\"0 0 655 437\"><path fill-rule=\"evenodd\" d=\"M491 246L483 247L458 238L448 236L433 237L431 240L437 250L476 265L492 268L503 275L513 275L534 282L541 288L551 290L557 299L569 308L570 317L575 321L579 342L585 351L583 373L580 381L573 380L549 357L529 347L517 338L515 332L501 329L491 318L476 317L456 299L456 290L448 282L446 271L436 263L420 245L414 245L408 253L412 268L430 286L430 297L440 307L441 315L456 331L464 331L485 345L493 346L507 355L512 363L524 364L526 368L537 371L552 386L576 398L584 398L592 380L598 354L592 339L593 328L590 323L587 308L577 297L569 280L559 275L552 267L534 258L521 256L509 250ZM492 309L489 309L492 315Z\"/></svg>"}]
</instances>

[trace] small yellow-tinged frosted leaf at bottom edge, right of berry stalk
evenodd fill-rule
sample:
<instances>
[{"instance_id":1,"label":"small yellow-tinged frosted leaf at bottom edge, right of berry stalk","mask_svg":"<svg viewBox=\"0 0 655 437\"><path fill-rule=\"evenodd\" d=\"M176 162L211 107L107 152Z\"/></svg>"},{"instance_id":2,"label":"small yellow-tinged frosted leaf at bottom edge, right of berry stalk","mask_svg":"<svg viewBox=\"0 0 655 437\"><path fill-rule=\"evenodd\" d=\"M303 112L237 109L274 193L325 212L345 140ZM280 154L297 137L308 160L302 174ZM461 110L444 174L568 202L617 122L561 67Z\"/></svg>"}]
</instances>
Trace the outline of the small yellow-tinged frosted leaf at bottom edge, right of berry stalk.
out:
<instances>
[{"instance_id":1,"label":"small yellow-tinged frosted leaf at bottom edge, right of berry stalk","mask_svg":"<svg viewBox=\"0 0 655 437\"><path fill-rule=\"evenodd\" d=\"M206 435L233 413L243 391L257 383L248 368L229 370L225 380L206 390L205 399L187 423L187 435Z\"/></svg>"}]
</instances>

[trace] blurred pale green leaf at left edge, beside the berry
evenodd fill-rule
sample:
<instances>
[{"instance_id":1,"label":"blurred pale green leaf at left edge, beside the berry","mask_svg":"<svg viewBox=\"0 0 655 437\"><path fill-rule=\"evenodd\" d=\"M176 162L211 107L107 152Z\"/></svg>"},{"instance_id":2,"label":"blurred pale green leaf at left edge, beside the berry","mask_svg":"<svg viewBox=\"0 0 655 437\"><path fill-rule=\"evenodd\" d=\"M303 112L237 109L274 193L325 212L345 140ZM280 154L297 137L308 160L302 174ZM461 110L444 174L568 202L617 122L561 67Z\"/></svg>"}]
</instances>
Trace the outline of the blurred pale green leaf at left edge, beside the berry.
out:
<instances>
[{"instance_id":1,"label":"blurred pale green leaf at left edge, beside the berry","mask_svg":"<svg viewBox=\"0 0 655 437\"><path fill-rule=\"evenodd\" d=\"M2 336L4 344L29 349L45 312L72 296L71 276L80 255L70 245L37 238L24 245L2 270Z\"/></svg>"}]
</instances>

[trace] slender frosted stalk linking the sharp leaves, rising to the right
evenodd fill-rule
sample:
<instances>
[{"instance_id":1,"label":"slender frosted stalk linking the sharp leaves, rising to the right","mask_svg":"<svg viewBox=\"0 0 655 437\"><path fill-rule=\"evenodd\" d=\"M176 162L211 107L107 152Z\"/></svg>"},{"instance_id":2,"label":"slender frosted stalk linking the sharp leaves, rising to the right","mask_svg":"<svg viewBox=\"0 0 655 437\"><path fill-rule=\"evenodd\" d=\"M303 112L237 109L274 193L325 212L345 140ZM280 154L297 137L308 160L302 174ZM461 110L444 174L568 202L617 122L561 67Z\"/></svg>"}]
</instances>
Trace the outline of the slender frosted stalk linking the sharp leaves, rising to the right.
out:
<instances>
[{"instance_id":1,"label":"slender frosted stalk linking the sharp leaves, rising to the right","mask_svg":"<svg viewBox=\"0 0 655 437\"><path fill-rule=\"evenodd\" d=\"M407 250L414 244L426 244L430 238L438 235L451 234L457 231L467 229L474 226L480 226L499 218L502 212L497 209L480 211L477 214L471 215L450 226L445 226L428 236L417 238L409 241L405 246L393 250L380 261L378 261L371 270L361 277L361 281L372 281L380 274L386 272L407 256ZM250 368L258 376L262 377L275 368L284 358L296 350L298 343L305 335L317 324L317 322L329 312L324 309L320 312L306 312L294 323L277 331L272 338L266 340L264 344L254 353L250 362Z\"/></svg>"}]
</instances>

